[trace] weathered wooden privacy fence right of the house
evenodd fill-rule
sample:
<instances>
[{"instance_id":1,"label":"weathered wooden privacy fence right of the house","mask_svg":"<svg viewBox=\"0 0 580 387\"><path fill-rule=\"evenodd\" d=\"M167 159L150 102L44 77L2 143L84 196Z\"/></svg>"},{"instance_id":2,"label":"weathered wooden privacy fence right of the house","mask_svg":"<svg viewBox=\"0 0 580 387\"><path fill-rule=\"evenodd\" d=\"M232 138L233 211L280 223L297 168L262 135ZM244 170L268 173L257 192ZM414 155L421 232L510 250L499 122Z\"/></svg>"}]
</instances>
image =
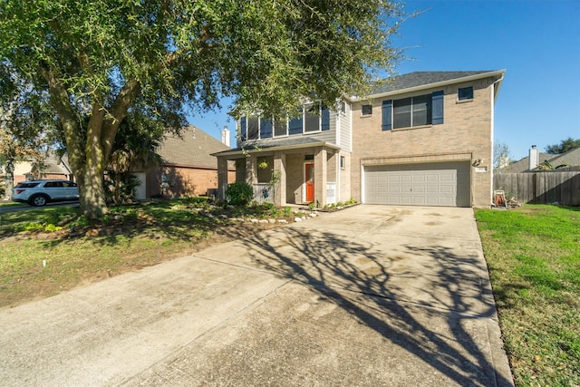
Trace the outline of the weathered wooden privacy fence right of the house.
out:
<instances>
[{"instance_id":1,"label":"weathered wooden privacy fence right of the house","mask_svg":"<svg viewBox=\"0 0 580 387\"><path fill-rule=\"evenodd\" d=\"M580 206L580 171L502 173L493 176L493 189L520 203Z\"/></svg>"}]
</instances>

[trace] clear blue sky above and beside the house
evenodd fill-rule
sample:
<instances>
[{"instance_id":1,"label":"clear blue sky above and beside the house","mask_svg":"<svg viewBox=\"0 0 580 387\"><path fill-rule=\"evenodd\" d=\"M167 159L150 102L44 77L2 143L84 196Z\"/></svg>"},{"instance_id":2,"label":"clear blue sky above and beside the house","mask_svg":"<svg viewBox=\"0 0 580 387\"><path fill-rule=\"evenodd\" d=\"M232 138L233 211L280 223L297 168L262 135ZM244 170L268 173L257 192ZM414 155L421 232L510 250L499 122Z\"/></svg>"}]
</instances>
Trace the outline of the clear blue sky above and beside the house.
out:
<instances>
[{"instance_id":1,"label":"clear blue sky above and beside the house","mask_svg":"<svg viewBox=\"0 0 580 387\"><path fill-rule=\"evenodd\" d=\"M495 140L512 160L531 145L580 139L580 0L408 0L393 43L407 47L398 73L506 69L496 102ZM222 111L189 117L220 139ZM232 134L232 144L235 136Z\"/></svg>"}]
</instances>

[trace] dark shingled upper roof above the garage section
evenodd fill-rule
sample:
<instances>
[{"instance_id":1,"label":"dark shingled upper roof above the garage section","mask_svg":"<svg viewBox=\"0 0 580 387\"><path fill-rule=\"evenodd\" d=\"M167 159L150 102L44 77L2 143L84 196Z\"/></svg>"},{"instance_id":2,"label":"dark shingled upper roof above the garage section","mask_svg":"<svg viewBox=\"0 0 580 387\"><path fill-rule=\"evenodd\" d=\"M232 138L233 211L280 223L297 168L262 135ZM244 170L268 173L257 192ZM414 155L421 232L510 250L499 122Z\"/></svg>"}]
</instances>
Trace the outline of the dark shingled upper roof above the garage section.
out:
<instances>
[{"instance_id":1,"label":"dark shingled upper roof above the garage section","mask_svg":"<svg viewBox=\"0 0 580 387\"><path fill-rule=\"evenodd\" d=\"M377 98L393 93L443 87L453 83L470 82L488 77L493 77L498 82L498 87L496 88L497 96L505 73L505 70L481 70L470 72L415 72L401 74L378 82L372 88L369 97ZM363 99L354 96L352 101L360 101Z\"/></svg>"}]
</instances>

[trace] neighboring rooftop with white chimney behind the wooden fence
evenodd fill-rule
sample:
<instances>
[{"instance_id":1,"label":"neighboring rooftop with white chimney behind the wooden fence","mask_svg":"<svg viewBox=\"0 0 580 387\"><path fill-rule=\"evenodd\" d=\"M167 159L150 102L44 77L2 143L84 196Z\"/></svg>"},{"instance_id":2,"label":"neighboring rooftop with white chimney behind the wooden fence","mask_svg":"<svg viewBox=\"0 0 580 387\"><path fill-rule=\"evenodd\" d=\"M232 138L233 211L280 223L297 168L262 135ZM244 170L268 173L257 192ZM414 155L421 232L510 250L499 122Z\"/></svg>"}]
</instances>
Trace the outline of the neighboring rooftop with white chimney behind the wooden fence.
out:
<instances>
[{"instance_id":1,"label":"neighboring rooftop with white chimney behind the wooden fence","mask_svg":"<svg viewBox=\"0 0 580 387\"><path fill-rule=\"evenodd\" d=\"M546 165L546 161L554 168L562 165L573 169L578 168L580 167L580 148L568 150L561 154L550 154L542 153L537 150L536 145L532 145L527 157L499 169L499 173L524 173L545 170L542 169L542 166Z\"/></svg>"}]
</instances>

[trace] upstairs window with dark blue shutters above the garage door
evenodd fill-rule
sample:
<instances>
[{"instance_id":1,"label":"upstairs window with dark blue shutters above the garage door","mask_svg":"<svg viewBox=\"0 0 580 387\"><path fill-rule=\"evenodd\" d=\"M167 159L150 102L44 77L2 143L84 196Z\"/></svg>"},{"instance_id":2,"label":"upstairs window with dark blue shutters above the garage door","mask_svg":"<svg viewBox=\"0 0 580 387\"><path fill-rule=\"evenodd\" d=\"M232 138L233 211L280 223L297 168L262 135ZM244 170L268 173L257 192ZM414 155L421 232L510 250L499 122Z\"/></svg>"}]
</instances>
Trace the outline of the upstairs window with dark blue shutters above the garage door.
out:
<instances>
[{"instance_id":1,"label":"upstairs window with dark blue shutters above the garage door","mask_svg":"<svg viewBox=\"0 0 580 387\"><path fill-rule=\"evenodd\" d=\"M383 131L440 123L443 123L443 92L382 102Z\"/></svg>"}]
</instances>

